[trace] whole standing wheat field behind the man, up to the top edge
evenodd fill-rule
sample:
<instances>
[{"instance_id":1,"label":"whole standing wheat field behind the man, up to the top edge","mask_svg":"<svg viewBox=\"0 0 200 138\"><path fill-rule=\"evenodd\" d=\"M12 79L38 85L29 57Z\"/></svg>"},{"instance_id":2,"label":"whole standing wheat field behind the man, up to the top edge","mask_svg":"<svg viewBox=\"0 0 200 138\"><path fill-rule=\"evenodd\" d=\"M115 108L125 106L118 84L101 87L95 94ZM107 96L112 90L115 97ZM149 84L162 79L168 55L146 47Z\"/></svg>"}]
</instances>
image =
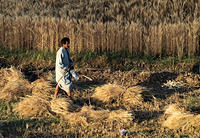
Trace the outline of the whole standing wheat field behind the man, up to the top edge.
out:
<instances>
[{"instance_id":1,"label":"whole standing wheat field behind the man, up to the top edge","mask_svg":"<svg viewBox=\"0 0 200 138\"><path fill-rule=\"evenodd\" d=\"M54 52L68 36L77 53L194 57L200 52L199 7L197 0L3 0L0 45Z\"/></svg>"}]
</instances>

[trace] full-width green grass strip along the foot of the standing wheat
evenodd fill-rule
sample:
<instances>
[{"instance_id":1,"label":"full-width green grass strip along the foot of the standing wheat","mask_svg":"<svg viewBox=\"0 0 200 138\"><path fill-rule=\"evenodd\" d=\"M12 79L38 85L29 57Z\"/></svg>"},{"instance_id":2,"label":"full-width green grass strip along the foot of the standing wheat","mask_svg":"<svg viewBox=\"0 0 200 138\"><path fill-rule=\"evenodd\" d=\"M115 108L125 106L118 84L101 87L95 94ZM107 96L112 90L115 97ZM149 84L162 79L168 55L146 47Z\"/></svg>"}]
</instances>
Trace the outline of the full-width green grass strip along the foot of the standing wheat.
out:
<instances>
[{"instance_id":1,"label":"full-width green grass strip along the foot of the standing wheat","mask_svg":"<svg viewBox=\"0 0 200 138\"><path fill-rule=\"evenodd\" d=\"M43 52L38 50L26 51L21 49L7 49L0 46L0 67L15 66L19 69L54 69L56 52ZM133 68L152 70L173 69L178 64L196 64L200 57L188 57L179 60L178 57L156 57L152 55L131 55L126 52L96 53L84 51L71 53L76 68L110 68L112 71L129 71Z\"/></svg>"}]
</instances>

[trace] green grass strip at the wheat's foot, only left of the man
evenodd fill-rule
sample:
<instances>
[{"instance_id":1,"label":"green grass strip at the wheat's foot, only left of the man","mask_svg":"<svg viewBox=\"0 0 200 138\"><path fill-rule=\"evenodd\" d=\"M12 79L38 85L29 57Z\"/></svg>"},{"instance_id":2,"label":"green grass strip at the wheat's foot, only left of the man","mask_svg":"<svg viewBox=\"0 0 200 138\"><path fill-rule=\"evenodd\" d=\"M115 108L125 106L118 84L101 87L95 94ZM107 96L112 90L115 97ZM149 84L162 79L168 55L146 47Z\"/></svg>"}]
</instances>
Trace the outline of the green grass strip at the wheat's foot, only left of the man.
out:
<instances>
[{"instance_id":1,"label":"green grass strip at the wheat's foot, only left of the man","mask_svg":"<svg viewBox=\"0 0 200 138\"><path fill-rule=\"evenodd\" d=\"M50 67L49 64L55 62L55 53L42 52L38 50L26 51L22 49L9 49L0 46L0 55L3 62L0 67L19 67L30 64L35 67ZM45 63L45 64L44 64Z\"/></svg>"}]
</instances>

